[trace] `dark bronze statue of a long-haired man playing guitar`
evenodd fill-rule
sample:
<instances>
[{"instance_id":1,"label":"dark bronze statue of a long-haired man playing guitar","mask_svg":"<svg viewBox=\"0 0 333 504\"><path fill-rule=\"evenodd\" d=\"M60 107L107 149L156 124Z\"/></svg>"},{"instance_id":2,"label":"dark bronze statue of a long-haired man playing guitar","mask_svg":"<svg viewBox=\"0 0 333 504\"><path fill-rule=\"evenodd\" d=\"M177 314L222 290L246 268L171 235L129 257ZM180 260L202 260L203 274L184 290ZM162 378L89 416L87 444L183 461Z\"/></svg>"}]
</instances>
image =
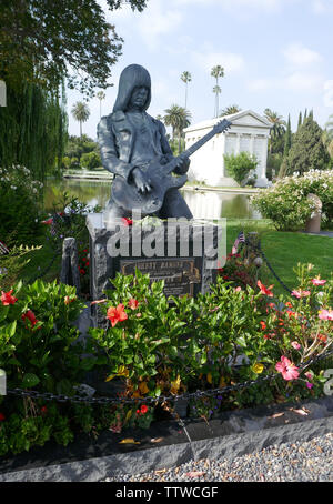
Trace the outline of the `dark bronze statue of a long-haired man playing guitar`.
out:
<instances>
[{"instance_id":1,"label":"dark bronze statue of a long-haired man playing guitar","mask_svg":"<svg viewBox=\"0 0 333 504\"><path fill-rule=\"evenodd\" d=\"M121 188L118 190L118 198L114 195L115 192L113 195L111 192L105 209L109 218L131 215L129 201L125 204L125 199L129 199L128 187L131 187L132 191L135 190L135 195L142 199L157 190L157 185L163 187L165 183L163 168L168 163L170 165L172 160L173 173L184 175L189 170L189 158L182 154L178 158L173 157L164 124L145 112L150 101L149 72L139 64L130 64L120 75L113 112L103 117L98 125L102 164L115 175L112 183L113 190ZM153 179L150 167L154 170L157 163L159 168L162 167L161 177ZM168 189L161 199L163 201L159 210L149 211L149 214L161 219L180 216L192 219L192 213L176 188ZM134 201L133 208L135 208Z\"/></svg>"}]
</instances>

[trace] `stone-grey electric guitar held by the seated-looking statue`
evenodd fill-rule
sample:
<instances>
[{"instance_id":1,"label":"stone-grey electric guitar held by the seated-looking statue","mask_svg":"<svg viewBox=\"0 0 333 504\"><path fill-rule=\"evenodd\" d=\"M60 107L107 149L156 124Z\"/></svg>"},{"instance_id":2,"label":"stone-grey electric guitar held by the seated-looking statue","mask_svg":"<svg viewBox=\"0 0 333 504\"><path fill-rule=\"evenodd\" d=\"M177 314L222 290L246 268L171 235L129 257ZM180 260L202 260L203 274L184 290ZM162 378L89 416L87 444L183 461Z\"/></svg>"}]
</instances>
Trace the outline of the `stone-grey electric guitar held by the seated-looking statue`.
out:
<instances>
[{"instance_id":1,"label":"stone-grey electric guitar held by the seated-looking statue","mask_svg":"<svg viewBox=\"0 0 333 504\"><path fill-rule=\"evenodd\" d=\"M226 119L218 122L212 131L182 152L182 155L190 157L215 134L223 133L230 127L231 122ZM172 175L173 170L176 168L176 162L178 158L167 164L161 164L158 160L153 160L148 165L140 167L140 170L150 179L149 185L152 188L145 194L138 191L134 182L128 183L122 177L115 177L111 189L113 201L128 212L131 212L132 209L141 210L143 215L158 212L163 204L165 193L170 189L182 188L188 181L188 175Z\"/></svg>"}]
</instances>

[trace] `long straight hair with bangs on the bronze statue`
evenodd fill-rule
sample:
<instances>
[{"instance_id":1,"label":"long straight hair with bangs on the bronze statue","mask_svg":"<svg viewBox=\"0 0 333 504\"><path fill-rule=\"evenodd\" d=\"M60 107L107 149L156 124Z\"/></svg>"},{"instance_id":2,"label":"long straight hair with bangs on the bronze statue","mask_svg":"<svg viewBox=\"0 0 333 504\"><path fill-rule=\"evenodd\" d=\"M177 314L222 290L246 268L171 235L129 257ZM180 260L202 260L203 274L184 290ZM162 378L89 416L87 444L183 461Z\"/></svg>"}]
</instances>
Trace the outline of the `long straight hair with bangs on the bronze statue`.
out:
<instances>
[{"instance_id":1,"label":"long straight hair with bangs on the bronze statue","mask_svg":"<svg viewBox=\"0 0 333 504\"><path fill-rule=\"evenodd\" d=\"M148 97L143 110L147 110L151 101L151 79L145 68L140 64L130 64L124 68L119 78L118 95L113 105L113 112L125 112L133 89L144 85L148 88Z\"/></svg>"}]
</instances>

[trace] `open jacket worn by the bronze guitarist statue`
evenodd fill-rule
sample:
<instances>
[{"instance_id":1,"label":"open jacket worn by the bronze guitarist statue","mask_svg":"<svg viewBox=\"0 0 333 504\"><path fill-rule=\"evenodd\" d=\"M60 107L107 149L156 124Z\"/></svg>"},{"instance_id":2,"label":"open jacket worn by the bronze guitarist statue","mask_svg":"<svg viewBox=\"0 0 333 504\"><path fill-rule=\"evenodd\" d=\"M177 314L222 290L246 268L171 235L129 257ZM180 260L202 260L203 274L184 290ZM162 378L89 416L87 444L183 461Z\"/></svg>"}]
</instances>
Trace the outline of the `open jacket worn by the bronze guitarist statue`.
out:
<instances>
[{"instance_id":1,"label":"open jacket worn by the bronze guitarist statue","mask_svg":"<svg viewBox=\"0 0 333 504\"><path fill-rule=\"evenodd\" d=\"M167 140L164 124L151 115L147 115L157 127L157 134L165 161L171 160L173 154ZM98 140L103 167L127 181L129 181L134 168L134 164L131 164L134 135L134 128L122 111L103 117L98 125Z\"/></svg>"}]
</instances>

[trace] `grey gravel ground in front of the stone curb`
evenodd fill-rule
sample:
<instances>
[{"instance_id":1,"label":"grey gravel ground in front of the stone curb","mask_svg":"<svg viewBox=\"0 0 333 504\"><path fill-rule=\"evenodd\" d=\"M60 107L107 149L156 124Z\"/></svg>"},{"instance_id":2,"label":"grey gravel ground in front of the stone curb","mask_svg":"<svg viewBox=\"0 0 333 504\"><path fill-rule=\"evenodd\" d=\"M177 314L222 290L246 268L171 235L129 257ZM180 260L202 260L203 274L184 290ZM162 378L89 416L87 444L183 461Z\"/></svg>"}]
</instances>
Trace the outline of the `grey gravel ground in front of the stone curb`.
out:
<instances>
[{"instance_id":1,"label":"grey gravel ground in front of the stone curb","mask_svg":"<svg viewBox=\"0 0 333 504\"><path fill-rule=\"evenodd\" d=\"M105 482L333 482L333 433L272 445L232 460L202 460Z\"/></svg>"}]
</instances>

